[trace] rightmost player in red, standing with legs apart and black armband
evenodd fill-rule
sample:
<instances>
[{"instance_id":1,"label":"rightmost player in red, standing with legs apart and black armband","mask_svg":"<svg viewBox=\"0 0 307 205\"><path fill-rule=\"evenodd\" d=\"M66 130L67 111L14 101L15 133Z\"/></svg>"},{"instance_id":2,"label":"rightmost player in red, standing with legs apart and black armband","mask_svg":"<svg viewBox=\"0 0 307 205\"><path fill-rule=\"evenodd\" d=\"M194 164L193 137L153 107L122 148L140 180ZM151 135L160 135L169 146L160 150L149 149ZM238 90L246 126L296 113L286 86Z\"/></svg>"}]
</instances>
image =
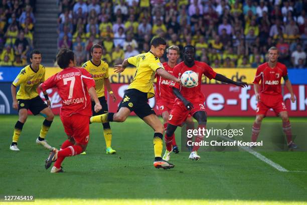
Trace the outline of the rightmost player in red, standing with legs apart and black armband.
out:
<instances>
[{"instance_id":1,"label":"rightmost player in red, standing with legs apart and black armband","mask_svg":"<svg viewBox=\"0 0 307 205\"><path fill-rule=\"evenodd\" d=\"M288 78L288 71L284 64L277 62L278 50L271 47L268 50L268 62L258 66L254 79L254 90L257 103L256 120L252 128L252 142L257 141L260 132L260 126L263 118L269 109L273 109L276 116L282 119L282 130L287 138L287 145L290 149L296 149L297 146L292 141L291 124L289 122L287 109L281 95L281 77L291 94L291 101L294 102L294 93L291 82ZM260 85L259 85L260 82ZM259 90L260 86L260 90ZM259 93L260 92L260 93Z\"/></svg>"}]
</instances>

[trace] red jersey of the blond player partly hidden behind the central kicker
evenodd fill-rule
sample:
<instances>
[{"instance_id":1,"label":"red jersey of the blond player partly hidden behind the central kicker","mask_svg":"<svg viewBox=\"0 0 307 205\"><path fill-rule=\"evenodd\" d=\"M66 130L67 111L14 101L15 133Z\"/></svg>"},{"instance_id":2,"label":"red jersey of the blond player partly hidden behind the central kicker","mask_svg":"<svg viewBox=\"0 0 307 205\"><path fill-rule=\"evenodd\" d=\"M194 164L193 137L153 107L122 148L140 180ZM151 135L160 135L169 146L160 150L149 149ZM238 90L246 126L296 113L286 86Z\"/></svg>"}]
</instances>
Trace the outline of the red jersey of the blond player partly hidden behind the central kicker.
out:
<instances>
[{"instance_id":1,"label":"red jersey of the blond player partly hidden behind the central kicker","mask_svg":"<svg viewBox=\"0 0 307 205\"><path fill-rule=\"evenodd\" d=\"M173 74L173 68L171 68L167 62L164 62L163 66L166 71ZM165 99L170 102L173 102L175 100L176 95L174 94L172 87L170 87L170 84L171 80L157 75L157 100Z\"/></svg>"}]
</instances>

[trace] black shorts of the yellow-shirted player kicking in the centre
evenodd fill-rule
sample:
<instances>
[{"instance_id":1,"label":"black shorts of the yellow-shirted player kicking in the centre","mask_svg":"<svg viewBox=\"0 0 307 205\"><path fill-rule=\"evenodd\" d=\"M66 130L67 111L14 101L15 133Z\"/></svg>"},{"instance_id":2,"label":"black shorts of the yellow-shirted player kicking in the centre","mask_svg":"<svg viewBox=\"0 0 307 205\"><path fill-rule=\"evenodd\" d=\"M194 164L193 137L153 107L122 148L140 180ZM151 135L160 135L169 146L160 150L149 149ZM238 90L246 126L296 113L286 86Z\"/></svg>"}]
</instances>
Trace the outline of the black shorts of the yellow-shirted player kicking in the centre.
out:
<instances>
[{"instance_id":1,"label":"black shorts of the yellow-shirted player kicking in the centre","mask_svg":"<svg viewBox=\"0 0 307 205\"><path fill-rule=\"evenodd\" d=\"M128 108L141 119L148 115L156 114L155 111L150 108L147 101L147 93L137 89L127 89L120 101L117 112L120 108Z\"/></svg>"}]
</instances>

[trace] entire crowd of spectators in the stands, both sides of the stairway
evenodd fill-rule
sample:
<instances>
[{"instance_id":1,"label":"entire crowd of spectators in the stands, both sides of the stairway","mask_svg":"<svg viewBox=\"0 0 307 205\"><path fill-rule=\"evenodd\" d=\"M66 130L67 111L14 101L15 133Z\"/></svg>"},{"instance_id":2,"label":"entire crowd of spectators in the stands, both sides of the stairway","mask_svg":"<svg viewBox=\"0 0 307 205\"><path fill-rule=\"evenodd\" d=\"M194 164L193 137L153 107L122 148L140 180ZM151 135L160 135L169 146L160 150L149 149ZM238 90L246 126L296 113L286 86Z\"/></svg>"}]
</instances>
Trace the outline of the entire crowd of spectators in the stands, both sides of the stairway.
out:
<instances>
[{"instance_id":1,"label":"entire crowd of spectators in the stands, both sides of the stairway","mask_svg":"<svg viewBox=\"0 0 307 205\"><path fill-rule=\"evenodd\" d=\"M21 65L33 47L34 1L2 1L1 65ZM77 65L95 43L110 65L149 50L152 37L168 46L196 47L212 67L257 67L276 46L279 61L306 67L307 3L223 0L59 0L58 48L71 48ZM161 61L165 61L162 58Z\"/></svg>"}]
</instances>

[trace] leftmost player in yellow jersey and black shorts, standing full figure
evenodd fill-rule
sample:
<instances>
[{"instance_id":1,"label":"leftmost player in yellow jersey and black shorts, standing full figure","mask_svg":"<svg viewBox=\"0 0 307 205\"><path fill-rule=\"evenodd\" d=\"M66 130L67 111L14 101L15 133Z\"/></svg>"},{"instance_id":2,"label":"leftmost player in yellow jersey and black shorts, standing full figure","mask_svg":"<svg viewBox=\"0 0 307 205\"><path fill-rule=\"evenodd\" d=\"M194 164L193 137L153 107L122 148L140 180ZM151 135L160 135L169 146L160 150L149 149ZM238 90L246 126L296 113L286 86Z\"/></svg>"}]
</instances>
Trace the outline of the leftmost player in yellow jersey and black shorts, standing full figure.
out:
<instances>
[{"instance_id":1,"label":"leftmost player in yellow jersey and black shorts, standing full figure","mask_svg":"<svg viewBox=\"0 0 307 205\"><path fill-rule=\"evenodd\" d=\"M45 137L51 126L54 115L49 108L51 104L47 92L44 92L47 105L37 92L37 87L45 79L45 67L41 65L41 53L38 50L33 50L30 54L30 61L32 64L24 67L11 85L13 108L18 110L19 115L19 119L14 128L13 142L10 146L10 149L13 151L20 151L17 147L17 142L27 120L28 110L30 110L33 115L41 114L46 118L43 122L40 135L36 139L36 143L44 146L46 149L51 149ZM20 88L16 94L17 86L20 86Z\"/></svg>"}]
</instances>

